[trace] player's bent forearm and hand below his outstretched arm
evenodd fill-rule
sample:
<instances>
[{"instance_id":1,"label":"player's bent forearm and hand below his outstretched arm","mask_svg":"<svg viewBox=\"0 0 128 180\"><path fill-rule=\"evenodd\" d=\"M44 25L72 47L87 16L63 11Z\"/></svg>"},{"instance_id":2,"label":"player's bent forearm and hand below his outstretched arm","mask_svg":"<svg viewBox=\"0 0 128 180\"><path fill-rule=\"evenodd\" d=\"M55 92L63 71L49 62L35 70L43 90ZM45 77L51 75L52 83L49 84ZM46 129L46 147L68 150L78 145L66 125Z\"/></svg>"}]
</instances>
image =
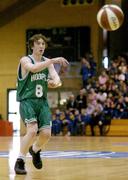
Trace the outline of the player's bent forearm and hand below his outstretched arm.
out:
<instances>
[{"instance_id":1,"label":"player's bent forearm and hand below his outstretched arm","mask_svg":"<svg viewBox=\"0 0 128 180\"><path fill-rule=\"evenodd\" d=\"M62 82L60 80L58 73L56 72L56 70L54 68L54 65L51 64L48 67L48 70L49 70L49 77L50 77L48 80L48 87L49 88L57 88L57 87L61 86Z\"/></svg>"}]
</instances>

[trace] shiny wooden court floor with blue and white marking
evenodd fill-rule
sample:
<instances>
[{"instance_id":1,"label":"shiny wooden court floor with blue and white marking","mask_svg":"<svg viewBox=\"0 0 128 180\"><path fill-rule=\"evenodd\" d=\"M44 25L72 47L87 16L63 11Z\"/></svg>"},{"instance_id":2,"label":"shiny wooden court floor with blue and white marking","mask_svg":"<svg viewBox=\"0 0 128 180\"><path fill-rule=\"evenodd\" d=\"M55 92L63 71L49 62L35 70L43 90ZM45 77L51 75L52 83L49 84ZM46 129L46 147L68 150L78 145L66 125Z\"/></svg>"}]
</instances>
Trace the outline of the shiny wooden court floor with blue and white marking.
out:
<instances>
[{"instance_id":1,"label":"shiny wooden court floor with blue and white marking","mask_svg":"<svg viewBox=\"0 0 128 180\"><path fill-rule=\"evenodd\" d=\"M0 180L128 180L128 137L52 137L41 152L44 167L15 175L22 137L0 137Z\"/></svg>"}]
</instances>

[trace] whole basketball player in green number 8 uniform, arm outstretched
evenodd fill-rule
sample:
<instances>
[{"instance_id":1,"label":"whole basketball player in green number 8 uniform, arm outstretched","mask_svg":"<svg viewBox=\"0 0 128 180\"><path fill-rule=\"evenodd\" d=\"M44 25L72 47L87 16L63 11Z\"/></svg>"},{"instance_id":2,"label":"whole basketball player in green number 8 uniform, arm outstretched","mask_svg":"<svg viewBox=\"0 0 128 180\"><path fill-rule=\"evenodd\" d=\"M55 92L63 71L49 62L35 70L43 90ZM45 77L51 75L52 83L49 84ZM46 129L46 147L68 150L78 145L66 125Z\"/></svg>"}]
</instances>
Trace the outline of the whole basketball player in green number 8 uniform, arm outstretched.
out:
<instances>
[{"instance_id":1,"label":"whole basketball player in green number 8 uniform, arm outstretched","mask_svg":"<svg viewBox=\"0 0 128 180\"><path fill-rule=\"evenodd\" d=\"M26 174L25 156L32 156L35 168L42 168L40 151L51 136L51 114L47 102L47 87L60 86L61 80L54 64L67 66L63 57L48 59L43 56L47 47L46 37L36 34L29 39L32 54L20 59L17 77L17 100L20 101L20 115L26 124L26 135L22 138L20 153L14 170Z\"/></svg>"}]
</instances>

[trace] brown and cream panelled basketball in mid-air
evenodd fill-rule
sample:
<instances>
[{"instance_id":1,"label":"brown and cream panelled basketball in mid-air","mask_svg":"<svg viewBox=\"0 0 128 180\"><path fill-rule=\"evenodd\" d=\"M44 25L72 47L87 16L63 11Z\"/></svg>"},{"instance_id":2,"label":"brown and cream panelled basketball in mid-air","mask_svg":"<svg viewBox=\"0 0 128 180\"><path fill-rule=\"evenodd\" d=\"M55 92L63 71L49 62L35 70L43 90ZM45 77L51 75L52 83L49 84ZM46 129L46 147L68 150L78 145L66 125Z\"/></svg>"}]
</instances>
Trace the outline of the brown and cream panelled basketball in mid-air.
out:
<instances>
[{"instance_id":1,"label":"brown and cream panelled basketball in mid-air","mask_svg":"<svg viewBox=\"0 0 128 180\"><path fill-rule=\"evenodd\" d=\"M124 21L122 9L114 4L104 5L97 13L97 22L102 29L107 31L117 30Z\"/></svg>"}]
</instances>

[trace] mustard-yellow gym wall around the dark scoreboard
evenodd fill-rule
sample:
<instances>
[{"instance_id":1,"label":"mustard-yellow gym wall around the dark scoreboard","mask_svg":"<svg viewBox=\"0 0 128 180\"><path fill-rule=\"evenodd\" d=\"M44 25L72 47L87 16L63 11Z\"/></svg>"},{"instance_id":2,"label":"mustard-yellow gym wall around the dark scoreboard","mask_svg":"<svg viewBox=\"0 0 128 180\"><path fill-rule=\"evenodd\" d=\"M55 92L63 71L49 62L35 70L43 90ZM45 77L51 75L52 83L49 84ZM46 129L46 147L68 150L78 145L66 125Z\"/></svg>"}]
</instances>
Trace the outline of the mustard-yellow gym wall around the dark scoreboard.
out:
<instances>
[{"instance_id":1,"label":"mustard-yellow gym wall around the dark scoreboard","mask_svg":"<svg viewBox=\"0 0 128 180\"><path fill-rule=\"evenodd\" d=\"M97 1L96 1L97 2ZM19 59L26 54L26 30L47 27L91 28L91 50L99 56L99 27L96 21L98 3L63 7L61 0L46 0L0 28L0 113L6 119L7 89L16 88ZM86 42L85 42L86 43Z\"/></svg>"}]
</instances>

